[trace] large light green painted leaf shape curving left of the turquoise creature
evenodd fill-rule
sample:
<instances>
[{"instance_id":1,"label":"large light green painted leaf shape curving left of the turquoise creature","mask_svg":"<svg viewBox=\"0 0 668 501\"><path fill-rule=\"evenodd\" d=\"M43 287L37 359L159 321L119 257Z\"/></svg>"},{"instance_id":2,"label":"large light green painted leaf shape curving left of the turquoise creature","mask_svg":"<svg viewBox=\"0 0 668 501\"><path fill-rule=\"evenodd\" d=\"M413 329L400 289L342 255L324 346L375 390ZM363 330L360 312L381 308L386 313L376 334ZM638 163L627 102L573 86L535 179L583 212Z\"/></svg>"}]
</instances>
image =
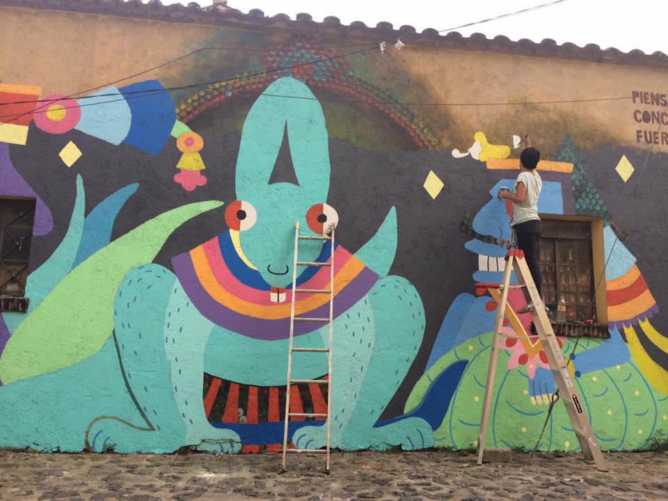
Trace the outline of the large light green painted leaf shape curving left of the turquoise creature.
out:
<instances>
[{"instance_id":1,"label":"large light green painted leaf shape curving left of the turquoise creature","mask_svg":"<svg viewBox=\"0 0 668 501\"><path fill-rule=\"evenodd\" d=\"M84 360L113 328L113 300L122 278L151 262L170 234L189 219L223 205L196 202L152 218L97 251L61 280L20 324L0 356L4 384Z\"/></svg>"}]
</instances>

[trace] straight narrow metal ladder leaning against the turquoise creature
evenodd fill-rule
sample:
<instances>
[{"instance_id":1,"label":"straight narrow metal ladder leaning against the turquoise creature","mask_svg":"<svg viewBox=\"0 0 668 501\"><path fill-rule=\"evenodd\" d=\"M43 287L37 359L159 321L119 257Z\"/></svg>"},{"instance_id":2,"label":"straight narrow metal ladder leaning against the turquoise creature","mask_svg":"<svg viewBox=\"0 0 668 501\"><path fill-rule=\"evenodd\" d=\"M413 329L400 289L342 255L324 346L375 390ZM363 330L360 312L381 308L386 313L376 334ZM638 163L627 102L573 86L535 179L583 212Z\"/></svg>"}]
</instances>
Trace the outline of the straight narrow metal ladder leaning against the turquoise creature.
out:
<instances>
[{"instance_id":1,"label":"straight narrow metal ladder leaning against the turquoise creature","mask_svg":"<svg viewBox=\"0 0 668 501\"><path fill-rule=\"evenodd\" d=\"M331 253L328 262L301 262L297 255L299 252L300 240L323 240L330 241ZM328 289L297 289L297 267L329 267L330 278ZM294 309L297 294L329 294L329 317L295 317ZM287 454L290 453L315 453L326 454L325 472L329 473L330 466L330 437L331 437L331 403L332 403L332 341L333 341L333 317L334 317L334 225L330 225L328 233L320 237L312 237L299 234L299 221L295 223L294 228L294 262L292 263L292 308L290 310L290 337L289 349L287 354L287 387L285 391L285 428L283 429L283 461L280 471L287 471ZM294 341L294 323L296 321L311 321L321 324L329 324L329 346L327 348L296 348ZM327 379L292 379L292 353L327 353ZM290 412L290 386L293 384L326 384L327 385L327 413L291 413ZM290 417L324 417L327 427L326 448L322 449L292 449L289 448L288 422Z\"/></svg>"}]
</instances>

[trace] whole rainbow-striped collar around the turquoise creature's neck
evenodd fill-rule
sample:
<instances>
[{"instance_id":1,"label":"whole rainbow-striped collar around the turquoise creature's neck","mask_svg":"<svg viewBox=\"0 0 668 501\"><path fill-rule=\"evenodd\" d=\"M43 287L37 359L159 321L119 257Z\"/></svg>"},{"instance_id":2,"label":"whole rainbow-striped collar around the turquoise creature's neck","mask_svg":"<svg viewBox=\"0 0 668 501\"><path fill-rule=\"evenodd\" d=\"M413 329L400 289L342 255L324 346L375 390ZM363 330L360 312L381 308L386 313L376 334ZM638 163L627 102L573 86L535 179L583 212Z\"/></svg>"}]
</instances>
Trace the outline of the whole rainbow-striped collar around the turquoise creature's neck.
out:
<instances>
[{"instance_id":1,"label":"whole rainbow-striped collar around the turquoise creature's neck","mask_svg":"<svg viewBox=\"0 0 668 501\"><path fill-rule=\"evenodd\" d=\"M331 244L324 244L317 262L328 262L330 253ZM342 246L336 245L334 253L336 318L360 301L379 276ZM288 337L292 284L285 287L284 294L283 288L277 291L265 282L260 273L250 268L239 255L231 232L177 255L172 264L186 294L202 315L214 324L255 339ZM307 268L297 279L297 287L326 289L329 275L328 267ZM277 298L283 301L277 303ZM329 296L300 294L295 303L295 314L328 317ZM300 322L294 326L294 333L301 335L319 327L311 322Z\"/></svg>"}]
</instances>

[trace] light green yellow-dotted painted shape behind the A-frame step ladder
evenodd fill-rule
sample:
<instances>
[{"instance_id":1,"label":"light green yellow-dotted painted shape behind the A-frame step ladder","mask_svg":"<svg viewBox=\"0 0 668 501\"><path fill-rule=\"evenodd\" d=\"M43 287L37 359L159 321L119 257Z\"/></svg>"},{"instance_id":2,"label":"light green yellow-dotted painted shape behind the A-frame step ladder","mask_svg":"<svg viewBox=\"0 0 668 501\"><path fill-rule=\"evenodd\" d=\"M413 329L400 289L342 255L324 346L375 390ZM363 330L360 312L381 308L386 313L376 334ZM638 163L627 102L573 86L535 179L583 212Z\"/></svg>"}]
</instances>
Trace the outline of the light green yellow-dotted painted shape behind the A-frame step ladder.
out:
<instances>
[{"instance_id":1,"label":"light green yellow-dotted painted shape behind the A-frame step ladder","mask_svg":"<svg viewBox=\"0 0 668 501\"><path fill-rule=\"evenodd\" d=\"M457 360L469 360L454 392L450 408L434 431L436 447L468 449L478 436L484 384L489 363L491 333L463 342L446 353L417 382L406 402L406 411L420 403L431 381ZM575 354L597 347L601 340L580 340ZM573 351L573 340L564 343L564 355ZM528 395L525 368L509 370L510 351L499 352L495 374L488 447L533 449L547 406L533 405ZM668 397L651 388L633 360L575 378L589 420L603 450L639 450L668 434ZM566 409L557 402L548 421L541 450L579 450Z\"/></svg>"}]
</instances>

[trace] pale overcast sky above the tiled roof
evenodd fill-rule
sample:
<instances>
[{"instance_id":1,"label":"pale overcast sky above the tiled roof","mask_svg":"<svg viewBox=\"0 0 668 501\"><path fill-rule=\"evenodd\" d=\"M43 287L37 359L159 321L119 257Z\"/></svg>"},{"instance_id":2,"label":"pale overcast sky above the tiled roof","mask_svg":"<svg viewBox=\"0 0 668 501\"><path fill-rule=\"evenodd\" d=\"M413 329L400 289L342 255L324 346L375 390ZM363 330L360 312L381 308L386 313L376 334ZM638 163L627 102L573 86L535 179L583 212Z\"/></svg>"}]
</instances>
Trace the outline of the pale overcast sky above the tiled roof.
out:
<instances>
[{"instance_id":1,"label":"pale overcast sky above the tiled roof","mask_svg":"<svg viewBox=\"0 0 668 501\"><path fill-rule=\"evenodd\" d=\"M395 28L410 24L418 33L425 28L443 30L495 15L530 8L550 0L228 0L228 5L244 13L259 8L265 15L284 13L294 19L309 13L315 21L333 15L343 24L362 21L376 26L387 21ZM162 3L177 3L162 0ZM182 0L180 3L188 3ZM209 6L210 0L200 0ZM628 52L641 49L651 54L668 54L668 0L565 0L530 13L458 29L463 35L484 33L488 38L506 35L511 40L529 38L540 42L552 38L557 43L573 42L583 47L595 43L605 49L616 47Z\"/></svg>"}]
</instances>

